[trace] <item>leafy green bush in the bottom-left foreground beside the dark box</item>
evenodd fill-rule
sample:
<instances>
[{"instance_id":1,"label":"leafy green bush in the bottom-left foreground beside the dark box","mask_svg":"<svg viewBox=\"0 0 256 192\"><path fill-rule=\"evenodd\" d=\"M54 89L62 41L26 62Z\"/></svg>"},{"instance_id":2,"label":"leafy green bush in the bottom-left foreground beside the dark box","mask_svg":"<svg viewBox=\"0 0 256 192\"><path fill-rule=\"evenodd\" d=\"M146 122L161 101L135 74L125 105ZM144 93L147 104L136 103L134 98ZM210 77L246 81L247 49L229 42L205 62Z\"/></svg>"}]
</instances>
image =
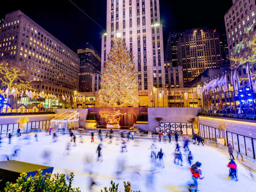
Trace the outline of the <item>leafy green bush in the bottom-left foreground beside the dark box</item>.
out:
<instances>
[{"instance_id":1,"label":"leafy green bush in the bottom-left foreground beside the dark box","mask_svg":"<svg viewBox=\"0 0 256 192\"><path fill-rule=\"evenodd\" d=\"M16 183L6 183L5 192L35 192L35 191L61 191L80 192L79 188L71 188L74 173L70 173L69 183L66 183L65 174L42 174L39 170L34 177L26 177L26 173L21 173Z\"/></svg>"}]
</instances>

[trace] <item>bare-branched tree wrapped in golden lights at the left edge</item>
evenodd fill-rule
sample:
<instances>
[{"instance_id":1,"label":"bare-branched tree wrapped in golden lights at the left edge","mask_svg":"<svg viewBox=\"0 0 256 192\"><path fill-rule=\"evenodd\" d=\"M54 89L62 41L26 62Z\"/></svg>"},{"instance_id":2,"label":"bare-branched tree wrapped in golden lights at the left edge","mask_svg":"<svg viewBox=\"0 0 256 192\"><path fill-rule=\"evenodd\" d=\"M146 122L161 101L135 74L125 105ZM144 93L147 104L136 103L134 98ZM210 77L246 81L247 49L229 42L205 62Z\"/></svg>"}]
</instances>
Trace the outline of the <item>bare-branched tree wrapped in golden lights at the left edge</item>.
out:
<instances>
[{"instance_id":1,"label":"bare-branched tree wrapped in golden lights at the left edge","mask_svg":"<svg viewBox=\"0 0 256 192\"><path fill-rule=\"evenodd\" d=\"M1 60L0 61L0 81L2 86L7 86L10 90L14 87L18 91L33 90L30 82L23 80L25 74L21 72L21 69L15 67L13 61Z\"/></svg>"}]
</instances>

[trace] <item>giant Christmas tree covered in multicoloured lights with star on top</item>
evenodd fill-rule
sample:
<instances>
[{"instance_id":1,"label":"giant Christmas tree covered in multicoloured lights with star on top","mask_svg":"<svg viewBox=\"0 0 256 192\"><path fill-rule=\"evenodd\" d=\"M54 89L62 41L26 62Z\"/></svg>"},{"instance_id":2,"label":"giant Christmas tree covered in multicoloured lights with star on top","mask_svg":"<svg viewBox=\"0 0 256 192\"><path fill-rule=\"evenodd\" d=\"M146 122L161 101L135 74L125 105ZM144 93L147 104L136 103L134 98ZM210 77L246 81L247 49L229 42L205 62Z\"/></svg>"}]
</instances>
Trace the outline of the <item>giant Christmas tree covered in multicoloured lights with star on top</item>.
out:
<instances>
[{"instance_id":1,"label":"giant Christmas tree covered in multicoloured lights with star on top","mask_svg":"<svg viewBox=\"0 0 256 192\"><path fill-rule=\"evenodd\" d=\"M134 69L133 56L121 38L116 38L105 61L99 101L122 106L132 106L139 101L138 74Z\"/></svg>"}]
</instances>

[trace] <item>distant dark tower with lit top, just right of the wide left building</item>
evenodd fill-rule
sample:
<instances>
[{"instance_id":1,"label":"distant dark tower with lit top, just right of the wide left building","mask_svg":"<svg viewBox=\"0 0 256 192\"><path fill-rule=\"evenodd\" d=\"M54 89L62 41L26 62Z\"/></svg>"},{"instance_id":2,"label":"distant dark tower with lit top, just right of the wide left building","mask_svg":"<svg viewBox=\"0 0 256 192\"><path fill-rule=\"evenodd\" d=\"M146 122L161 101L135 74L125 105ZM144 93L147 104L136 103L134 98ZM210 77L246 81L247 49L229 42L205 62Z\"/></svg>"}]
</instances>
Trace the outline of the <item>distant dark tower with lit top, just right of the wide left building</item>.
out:
<instances>
[{"instance_id":1,"label":"distant dark tower with lit top, just right of the wide left building","mask_svg":"<svg viewBox=\"0 0 256 192\"><path fill-rule=\"evenodd\" d=\"M77 50L80 58L79 68L79 91L91 92L93 74L97 74L101 70L101 54L93 47L86 43Z\"/></svg>"}]
</instances>

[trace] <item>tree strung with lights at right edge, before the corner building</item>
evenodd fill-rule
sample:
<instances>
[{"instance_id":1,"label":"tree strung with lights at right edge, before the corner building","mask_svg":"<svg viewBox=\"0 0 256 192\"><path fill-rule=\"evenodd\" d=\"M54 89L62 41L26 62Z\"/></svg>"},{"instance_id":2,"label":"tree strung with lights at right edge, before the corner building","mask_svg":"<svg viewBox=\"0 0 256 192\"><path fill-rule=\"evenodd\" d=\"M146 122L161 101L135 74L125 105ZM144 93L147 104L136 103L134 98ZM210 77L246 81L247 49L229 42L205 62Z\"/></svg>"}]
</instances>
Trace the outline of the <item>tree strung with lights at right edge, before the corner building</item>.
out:
<instances>
[{"instance_id":1,"label":"tree strung with lights at right edge, before the corner building","mask_svg":"<svg viewBox=\"0 0 256 192\"><path fill-rule=\"evenodd\" d=\"M241 44L244 45L246 48L245 52L240 52L239 56L231 56L230 59L230 66L231 68L238 68L240 65L249 62L256 61L256 34L253 31L249 31L248 33L244 34L242 42L238 44L241 48Z\"/></svg>"}]
</instances>

